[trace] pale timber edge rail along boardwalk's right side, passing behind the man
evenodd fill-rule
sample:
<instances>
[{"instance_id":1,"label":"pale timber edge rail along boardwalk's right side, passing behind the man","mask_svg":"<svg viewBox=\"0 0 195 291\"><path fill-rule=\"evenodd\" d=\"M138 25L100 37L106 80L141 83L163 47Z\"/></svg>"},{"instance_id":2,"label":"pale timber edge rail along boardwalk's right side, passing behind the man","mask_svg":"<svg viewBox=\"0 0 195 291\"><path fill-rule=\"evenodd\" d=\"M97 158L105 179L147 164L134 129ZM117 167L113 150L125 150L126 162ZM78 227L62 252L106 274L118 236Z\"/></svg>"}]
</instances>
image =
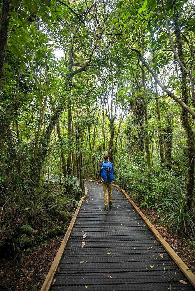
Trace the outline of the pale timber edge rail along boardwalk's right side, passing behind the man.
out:
<instances>
[{"instance_id":1,"label":"pale timber edge rail along boardwalk's right side, passing behind the man","mask_svg":"<svg viewBox=\"0 0 195 291\"><path fill-rule=\"evenodd\" d=\"M86 180L89 182L98 182L96 180ZM175 251L171 248L171 246L166 242L166 240L160 235L160 233L156 230L156 228L152 225L152 223L145 217L143 212L137 207L137 205L133 202L133 200L129 197L129 195L118 185L113 184L114 187L122 191L122 193L129 200L131 205L135 208L135 210L139 213L140 217L145 221L147 226L150 228L152 233L155 235L157 241L164 247L167 253L171 256L175 264L180 268L182 273L186 276L192 286L195 288L195 275L189 270L188 266L180 259L180 257L175 253Z\"/></svg>"}]
</instances>

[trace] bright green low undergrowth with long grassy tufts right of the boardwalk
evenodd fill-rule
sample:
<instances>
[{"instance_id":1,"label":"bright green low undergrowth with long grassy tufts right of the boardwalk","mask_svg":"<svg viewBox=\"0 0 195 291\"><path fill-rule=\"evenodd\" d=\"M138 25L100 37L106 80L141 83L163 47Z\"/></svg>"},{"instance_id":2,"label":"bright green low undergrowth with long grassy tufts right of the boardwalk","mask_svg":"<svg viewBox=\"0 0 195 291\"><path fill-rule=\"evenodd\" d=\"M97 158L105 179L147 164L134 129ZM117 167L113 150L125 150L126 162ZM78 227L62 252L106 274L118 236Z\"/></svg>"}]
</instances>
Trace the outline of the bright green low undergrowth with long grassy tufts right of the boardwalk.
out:
<instances>
[{"instance_id":1,"label":"bright green low undergrowth with long grassy tufts right of the boardwalk","mask_svg":"<svg viewBox=\"0 0 195 291\"><path fill-rule=\"evenodd\" d=\"M151 173L130 159L116 167L115 183L125 189L140 207L157 210L161 223L175 233L195 234L195 209L186 205L186 179L173 171Z\"/></svg>"}]
</instances>

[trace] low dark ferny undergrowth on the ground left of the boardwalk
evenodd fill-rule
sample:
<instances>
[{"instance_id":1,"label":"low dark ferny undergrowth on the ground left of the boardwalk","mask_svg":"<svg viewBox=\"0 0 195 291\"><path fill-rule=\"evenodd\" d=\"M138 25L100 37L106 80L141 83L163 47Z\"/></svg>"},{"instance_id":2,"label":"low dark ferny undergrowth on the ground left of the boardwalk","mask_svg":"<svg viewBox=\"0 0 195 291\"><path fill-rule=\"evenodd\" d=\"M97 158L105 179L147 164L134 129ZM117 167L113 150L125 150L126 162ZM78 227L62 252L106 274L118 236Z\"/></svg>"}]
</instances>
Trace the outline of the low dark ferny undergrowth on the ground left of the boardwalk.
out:
<instances>
[{"instance_id":1,"label":"low dark ferny undergrowth on the ground left of the boardwalk","mask_svg":"<svg viewBox=\"0 0 195 291\"><path fill-rule=\"evenodd\" d=\"M18 206L10 199L0 217L1 263L20 256L24 249L36 249L48 237L65 234L78 205L75 191L80 191L76 184L66 193L63 186L50 183L43 184L36 200L26 199Z\"/></svg>"}]
</instances>

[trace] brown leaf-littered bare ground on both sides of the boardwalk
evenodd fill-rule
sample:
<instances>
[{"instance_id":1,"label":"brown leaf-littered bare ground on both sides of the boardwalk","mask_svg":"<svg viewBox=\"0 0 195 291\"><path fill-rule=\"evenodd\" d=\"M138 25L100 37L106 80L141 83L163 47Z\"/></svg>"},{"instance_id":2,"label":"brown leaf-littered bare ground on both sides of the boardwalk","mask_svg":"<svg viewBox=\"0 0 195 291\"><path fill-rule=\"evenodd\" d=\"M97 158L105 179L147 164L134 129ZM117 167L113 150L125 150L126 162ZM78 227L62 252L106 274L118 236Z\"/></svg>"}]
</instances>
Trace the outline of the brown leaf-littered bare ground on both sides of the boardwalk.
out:
<instances>
[{"instance_id":1,"label":"brown leaf-littered bare ground on both sides of the boardwalk","mask_svg":"<svg viewBox=\"0 0 195 291\"><path fill-rule=\"evenodd\" d=\"M180 237L159 224L160 217L154 210L141 209L162 237L195 274L195 248L188 247ZM69 224L68 221L67 224ZM35 250L24 251L24 260L8 261L0 267L0 289L10 291L38 291L52 265L63 236L40 243Z\"/></svg>"}]
</instances>

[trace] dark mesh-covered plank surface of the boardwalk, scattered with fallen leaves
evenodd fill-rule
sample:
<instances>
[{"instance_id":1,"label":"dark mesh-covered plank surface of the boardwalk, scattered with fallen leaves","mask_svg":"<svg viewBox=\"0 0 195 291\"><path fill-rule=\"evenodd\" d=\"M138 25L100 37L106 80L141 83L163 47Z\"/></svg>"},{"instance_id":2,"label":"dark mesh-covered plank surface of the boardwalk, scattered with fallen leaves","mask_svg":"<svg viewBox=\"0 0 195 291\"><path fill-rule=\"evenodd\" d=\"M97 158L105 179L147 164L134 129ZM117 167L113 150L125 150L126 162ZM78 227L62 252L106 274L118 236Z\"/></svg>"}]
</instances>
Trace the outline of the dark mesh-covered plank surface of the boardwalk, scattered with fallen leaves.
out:
<instances>
[{"instance_id":1,"label":"dark mesh-covered plank surface of the boardwalk, scattered with fallen leaves","mask_svg":"<svg viewBox=\"0 0 195 291\"><path fill-rule=\"evenodd\" d=\"M101 184L85 186L50 290L194 290L121 191L113 187L113 206L104 212Z\"/></svg>"}]
</instances>

